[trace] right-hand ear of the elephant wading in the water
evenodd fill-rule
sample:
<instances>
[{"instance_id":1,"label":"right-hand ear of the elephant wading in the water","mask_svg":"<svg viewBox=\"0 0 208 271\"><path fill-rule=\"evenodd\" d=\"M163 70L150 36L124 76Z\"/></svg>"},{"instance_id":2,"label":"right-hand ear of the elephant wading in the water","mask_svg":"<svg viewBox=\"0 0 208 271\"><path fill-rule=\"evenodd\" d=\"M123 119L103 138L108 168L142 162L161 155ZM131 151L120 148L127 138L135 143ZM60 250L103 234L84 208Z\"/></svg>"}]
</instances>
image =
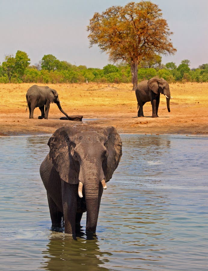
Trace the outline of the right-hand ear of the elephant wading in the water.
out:
<instances>
[{"instance_id":1,"label":"right-hand ear of the elephant wading in the water","mask_svg":"<svg viewBox=\"0 0 208 271\"><path fill-rule=\"evenodd\" d=\"M122 142L121 137L119 136L115 127L106 127L100 131L107 137L107 141L105 146L108 150L108 158L107 158L107 170L105 173L106 182L108 182L118 167L118 163L120 162L122 155Z\"/></svg>"}]
</instances>

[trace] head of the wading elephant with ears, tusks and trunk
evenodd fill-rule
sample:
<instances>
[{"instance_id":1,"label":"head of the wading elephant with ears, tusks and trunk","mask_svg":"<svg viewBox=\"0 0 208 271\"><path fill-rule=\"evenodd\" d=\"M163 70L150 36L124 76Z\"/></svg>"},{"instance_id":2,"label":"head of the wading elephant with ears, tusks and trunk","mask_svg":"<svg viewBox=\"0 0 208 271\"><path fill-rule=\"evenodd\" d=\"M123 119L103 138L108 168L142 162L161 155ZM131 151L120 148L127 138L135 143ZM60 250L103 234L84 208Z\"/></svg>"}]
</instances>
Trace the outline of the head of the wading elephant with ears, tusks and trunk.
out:
<instances>
[{"instance_id":1,"label":"head of the wading elephant with ears, tusks and trunk","mask_svg":"<svg viewBox=\"0 0 208 271\"><path fill-rule=\"evenodd\" d=\"M122 155L121 138L114 127L84 131L62 127L49 139L49 157L60 178L77 185L85 195L87 232L95 232L99 205L106 182L112 178Z\"/></svg>"}]
</instances>

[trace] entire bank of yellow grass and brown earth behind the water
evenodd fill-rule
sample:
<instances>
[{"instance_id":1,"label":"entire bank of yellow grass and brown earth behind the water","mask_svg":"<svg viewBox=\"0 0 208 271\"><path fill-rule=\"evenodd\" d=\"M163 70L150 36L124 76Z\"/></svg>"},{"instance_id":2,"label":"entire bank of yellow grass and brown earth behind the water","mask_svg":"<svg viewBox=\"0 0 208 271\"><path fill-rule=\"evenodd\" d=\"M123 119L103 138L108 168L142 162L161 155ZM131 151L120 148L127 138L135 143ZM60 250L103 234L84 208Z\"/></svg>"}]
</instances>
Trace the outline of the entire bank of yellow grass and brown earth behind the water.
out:
<instances>
[{"instance_id":1,"label":"entire bank of yellow grass and brown earth behind the water","mask_svg":"<svg viewBox=\"0 0 208 271\"><path fill-rule=\"evenodd\" d=\"M83 121L60 120L64 115L50 104L48 120L34 119L26 111L26 92L32 83L0 84L0 136L52 134L65 125L115 126L127 134L184 134L208 136L208 83L170 84L170 113L161 95L158 118L151 118L151 103L143 107L145 117L137 117L137 101L131 84L48 84L56 89L68 115L83 115ZM44 86L43 84L38 84Z\"/></svg>"}]
</instances>

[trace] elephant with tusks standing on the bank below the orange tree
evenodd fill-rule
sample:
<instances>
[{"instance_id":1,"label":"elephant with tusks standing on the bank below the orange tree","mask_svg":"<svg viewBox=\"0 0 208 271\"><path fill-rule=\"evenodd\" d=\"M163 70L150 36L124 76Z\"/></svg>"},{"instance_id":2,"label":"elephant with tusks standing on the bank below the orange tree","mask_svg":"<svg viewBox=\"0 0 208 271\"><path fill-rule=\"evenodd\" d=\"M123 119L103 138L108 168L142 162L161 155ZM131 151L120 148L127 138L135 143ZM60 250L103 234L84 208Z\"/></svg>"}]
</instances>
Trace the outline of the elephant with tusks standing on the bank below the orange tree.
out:
<instances>
[{"instance_id":1,"label":"elephant with tusks standing on the bank below the orange tree","mask_svg":"<svg viewBox=\"0 0 208 271\"><path fill-rule=\"evenodd\" d=\"M152 105L152 118L158 117L158 107L160 103L160 94L166 95L167 109L170 112L170 88L169 84L163 78L153 77L149 81L144 80L137 85L136 99L138 117L144 117L143 105L151 101Z\"/></svg>"}]
</instances>

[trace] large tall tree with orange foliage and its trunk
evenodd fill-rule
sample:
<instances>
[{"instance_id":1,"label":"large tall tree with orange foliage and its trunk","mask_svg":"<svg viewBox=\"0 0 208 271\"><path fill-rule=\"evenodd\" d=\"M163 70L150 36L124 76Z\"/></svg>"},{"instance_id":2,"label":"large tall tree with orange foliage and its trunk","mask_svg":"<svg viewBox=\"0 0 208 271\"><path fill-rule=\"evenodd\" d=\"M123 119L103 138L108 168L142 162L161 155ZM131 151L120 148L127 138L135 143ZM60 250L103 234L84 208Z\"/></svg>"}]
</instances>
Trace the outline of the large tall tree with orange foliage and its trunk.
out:
<instances>
[{"instance_id":1,"label":"large tall tree with orange foliage and its trunk","mask_svg":"<svg viewBox=\"0 0 208 271\"><path fill-rule=\"evenodd\" d=\"M176 52L169 38L173 33L162 18L161 9L150 1L130 2L124 7L112 6L101 14L95 13L87 30L90 47L97 44L111 61L130 64L133 90L137 86L140 61L155 54Z\"/></svg>"}]
</instances>

